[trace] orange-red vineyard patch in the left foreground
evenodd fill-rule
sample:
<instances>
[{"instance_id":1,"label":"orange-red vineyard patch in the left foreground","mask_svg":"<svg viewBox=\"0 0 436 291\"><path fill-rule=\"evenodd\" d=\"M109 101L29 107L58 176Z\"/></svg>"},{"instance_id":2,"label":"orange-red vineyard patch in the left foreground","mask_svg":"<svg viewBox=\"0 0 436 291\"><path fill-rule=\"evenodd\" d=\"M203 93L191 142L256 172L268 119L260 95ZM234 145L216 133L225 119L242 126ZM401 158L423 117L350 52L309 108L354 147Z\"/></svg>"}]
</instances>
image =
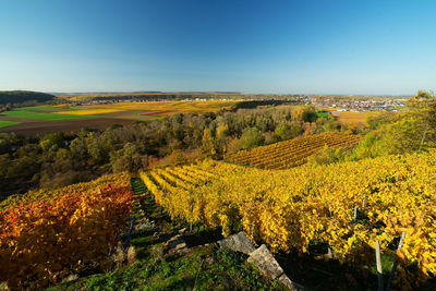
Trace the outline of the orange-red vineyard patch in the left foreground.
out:
<instances>
[{"instance_id":1,"label":"orange-red vineyard patch in the left foreground","mask_svg":"<svg viewBox=\"0 0 436 291\"><path fill-rule=\"evenodd\" d=\"M40 288L87 267L107 268L133 207L126 173L31 191L0 210L0 281Z\"/></svg>"}]
</instances>

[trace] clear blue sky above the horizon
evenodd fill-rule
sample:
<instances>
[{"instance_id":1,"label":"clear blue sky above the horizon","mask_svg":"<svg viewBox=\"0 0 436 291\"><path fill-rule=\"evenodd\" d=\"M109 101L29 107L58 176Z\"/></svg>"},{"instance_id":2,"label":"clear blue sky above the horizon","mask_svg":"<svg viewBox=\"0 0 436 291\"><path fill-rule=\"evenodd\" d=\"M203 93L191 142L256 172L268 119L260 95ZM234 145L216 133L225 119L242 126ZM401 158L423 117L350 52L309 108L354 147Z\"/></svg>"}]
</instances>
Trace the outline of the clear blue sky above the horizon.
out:
<instances>
[{"instance_id":1,"label":"clear blue sky above the horizon","mask_svg":"<svg viewBox=\"0 0 436 291\"><path fill-rule=\"evenodd\" d=\"M0 1L0 89L436 89L436 1Z\"/></svg>"}]
</instances>

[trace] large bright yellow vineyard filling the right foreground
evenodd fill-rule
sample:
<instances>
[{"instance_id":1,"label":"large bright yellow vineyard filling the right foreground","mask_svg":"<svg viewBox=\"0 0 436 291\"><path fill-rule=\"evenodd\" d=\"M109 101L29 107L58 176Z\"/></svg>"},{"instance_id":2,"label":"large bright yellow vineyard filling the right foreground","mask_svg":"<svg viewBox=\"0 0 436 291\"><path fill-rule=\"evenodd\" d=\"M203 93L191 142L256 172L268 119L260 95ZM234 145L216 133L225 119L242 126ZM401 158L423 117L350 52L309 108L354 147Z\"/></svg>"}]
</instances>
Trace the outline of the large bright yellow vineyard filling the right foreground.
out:
<instances>
[{"instance_id":1,"label":"large bright yellow vineyard filling the right foreground","mask_svg":"<svg viewBox=\"0 0 436 291\"><path fill-rule=\"evenodd\" d=\"M378 241L385 259L399 264L393 283L413 290L436 274L435 154L283 171L205 161L141 177L173 218L221 227L223 235L242 229L275 252L325 245L363 276Z\"/></svg>"}]
</instances>

